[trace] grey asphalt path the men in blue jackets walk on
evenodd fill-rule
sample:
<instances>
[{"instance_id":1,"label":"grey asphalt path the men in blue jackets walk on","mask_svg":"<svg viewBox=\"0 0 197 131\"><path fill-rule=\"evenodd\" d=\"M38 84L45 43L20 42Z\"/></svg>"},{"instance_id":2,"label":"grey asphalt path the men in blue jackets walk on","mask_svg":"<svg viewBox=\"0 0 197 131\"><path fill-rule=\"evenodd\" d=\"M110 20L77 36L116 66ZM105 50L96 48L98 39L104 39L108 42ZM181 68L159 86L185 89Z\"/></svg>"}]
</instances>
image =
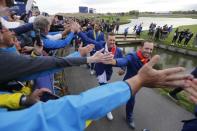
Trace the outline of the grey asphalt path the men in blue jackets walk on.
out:
<instances>
[{"instance_id":1,"label":"grey asphalt path the men in blue jackets walk on","mask_svg":"<svg viewBox=\"0 0 197 131\"><path fill-rule=\"evenodd\" d=\"M122 80L115 69L112 81ZM97 86L95 76L90 75L86 66L66 68L66 82L71 94L78 94ZM106 117L94 121L86 131L131 131L125 122L125 105L113 110L113 121ZM161 96L156 90L143 88L136 96L134 109L135 131L144 128L151 131L181 131L183 119L190 119L193 114L176 105L166 96Z\"/></svg>"}]
</instances>

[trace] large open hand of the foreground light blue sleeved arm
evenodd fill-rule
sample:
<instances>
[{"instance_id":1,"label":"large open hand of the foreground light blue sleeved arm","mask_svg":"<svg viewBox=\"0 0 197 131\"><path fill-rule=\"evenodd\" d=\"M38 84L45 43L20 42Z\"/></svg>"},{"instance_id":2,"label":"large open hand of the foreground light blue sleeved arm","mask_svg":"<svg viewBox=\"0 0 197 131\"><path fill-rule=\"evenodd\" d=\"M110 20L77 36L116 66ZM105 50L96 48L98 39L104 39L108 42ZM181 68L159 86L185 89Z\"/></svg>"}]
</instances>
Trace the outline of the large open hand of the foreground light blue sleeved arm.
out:
<instances>
[{"instance_id":1,"label":"large open hand of the foreground light blue sleeved arm","mask_svg":"<svg viewBox=\"0 0 197 131\"><path fill-rule=\"evenodd\" d=\"M136 93L142 86L155 87L160 86L183 86L185 80L192 79L191 75L177 74L183 72L183 67L168 68L163 70L153 69L153 66L159 61L159 56L154 56L147 64L145 64L136 76L127 80L131 83Z\"/></svg>"}]
</instances>

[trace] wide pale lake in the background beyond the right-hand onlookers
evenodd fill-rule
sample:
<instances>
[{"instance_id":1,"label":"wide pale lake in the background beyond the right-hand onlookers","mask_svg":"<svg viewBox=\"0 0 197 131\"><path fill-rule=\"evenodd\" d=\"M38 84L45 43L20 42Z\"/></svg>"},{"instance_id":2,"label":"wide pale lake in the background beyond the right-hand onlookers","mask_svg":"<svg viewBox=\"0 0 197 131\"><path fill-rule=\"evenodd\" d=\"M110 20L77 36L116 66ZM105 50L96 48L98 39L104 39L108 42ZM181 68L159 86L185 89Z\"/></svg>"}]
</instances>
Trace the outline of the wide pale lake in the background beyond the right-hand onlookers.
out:
<instances>
[{"instance_id":1,"label":"wide pale lake in the background beyond the right-hand onlookers","mask_svg":"<svg viewBox=\"0 0 197 131\"><path fill-rule=\"evenodd\" d=\"M138 19L130 19L131 22L128 24L121 25L119 32L123 33L126 27L129 27L129 33L132 33L133 27L137 24L142 23L143 30L148 30L150 23L156 23L157 26L163 26L167 24L168 26L173 25L173 27L178 27L181 25L193 25L197 24L197 19L192 18L161 18L161 17L139 17Z\"/></svg>"}]
</instances>

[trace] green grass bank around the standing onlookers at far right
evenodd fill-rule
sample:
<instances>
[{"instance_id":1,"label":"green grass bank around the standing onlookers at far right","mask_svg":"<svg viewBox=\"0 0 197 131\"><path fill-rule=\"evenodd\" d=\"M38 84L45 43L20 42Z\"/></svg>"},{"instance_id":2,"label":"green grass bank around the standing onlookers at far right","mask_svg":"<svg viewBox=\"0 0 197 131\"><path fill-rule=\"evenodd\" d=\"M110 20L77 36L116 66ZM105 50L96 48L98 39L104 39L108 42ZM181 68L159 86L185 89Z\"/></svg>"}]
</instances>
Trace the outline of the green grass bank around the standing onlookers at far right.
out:
<instances>
[{"instance_id":1,"label":"green grass bank around the standing onlookers at far right","mask_svg":"<svg viewBox=\"0 0 197 131\"><path fill-rule=\"evenodd\" d=\"M176 47L178 47L178 48L187 48L189 50L197 51L197 48L195 48L194 45L193 45L193 43L194 43L194 37L195 37L195 35L197 33L197 25L179 26L178 28L179 28L179 31L180 30L183 30L183 29L189 29L191 32L194 33L194 36L189 41L187 47L184 47L182 44L181 45L176 45ZM170 45L171 44L171 41L173 39L173 34L174 34L174 31L175 30L176 30L176 28L173 29L173 31L170 33L170 35L168 36L168 38L166 38L165 40L159 40L159 41L156 41L156 42L157 43L161 43L161 44ZM149 39L147 33L148 33L148 31L143 31L142 34L141 34L141 38L143 38L143 39ZM183 42L184 42L184 40L182 41L182 43Z\"/></svg>"}]
</instances>

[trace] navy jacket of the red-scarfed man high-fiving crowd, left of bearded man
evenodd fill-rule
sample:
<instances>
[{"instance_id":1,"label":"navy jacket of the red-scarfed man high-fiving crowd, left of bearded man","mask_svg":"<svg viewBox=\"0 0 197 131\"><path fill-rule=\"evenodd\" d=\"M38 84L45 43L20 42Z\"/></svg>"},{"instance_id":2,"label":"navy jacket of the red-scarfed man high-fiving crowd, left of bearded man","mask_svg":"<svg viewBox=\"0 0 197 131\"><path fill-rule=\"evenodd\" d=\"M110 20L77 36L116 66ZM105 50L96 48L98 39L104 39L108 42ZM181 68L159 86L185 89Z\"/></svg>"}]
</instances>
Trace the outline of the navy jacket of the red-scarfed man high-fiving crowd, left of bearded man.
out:
<instances>
[{"instance_id":1,"label":"navy jacket of the red-scarfed man high-fiving crowd, left of bearded man","mask_svg":"<svg viewBox=\"0 0 197 131\"><path fill-rule=\"evenodd\" d=\"M87 35L85 35L82 32L80 32L78 35L79 35L79 37L81 37L82 41L84 41L85 43L94 44L96 51L98 51L102 48L105 48L105 44L106 44L105 41L93 40L93 39L87 37ZM121 52L120 48L117 47L116 52L114 54L114 58L122 58L122 57L123 57L122 52ZM107 81L108 81L108 80L110 80L111 75L113 73L112 67L113 67L112 65L105 65L105 64L102 64L102 63L96 63L95 64L96 75L97 76L101 75L105 71L106 75L107 75Z\"/></svg>"}]
</instances>

